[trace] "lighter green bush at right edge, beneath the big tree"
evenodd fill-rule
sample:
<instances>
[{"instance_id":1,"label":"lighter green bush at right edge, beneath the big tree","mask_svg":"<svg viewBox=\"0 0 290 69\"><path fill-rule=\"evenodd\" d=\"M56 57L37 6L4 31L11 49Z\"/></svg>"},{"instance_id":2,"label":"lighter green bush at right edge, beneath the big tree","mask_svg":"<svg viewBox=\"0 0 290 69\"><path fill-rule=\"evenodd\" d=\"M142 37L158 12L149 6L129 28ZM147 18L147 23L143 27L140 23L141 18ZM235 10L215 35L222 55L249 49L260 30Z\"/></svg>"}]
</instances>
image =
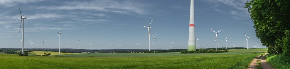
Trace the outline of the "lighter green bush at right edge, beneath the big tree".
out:
<instances>
[{"instance_id":1,"label":"lighter green bush at right edge, beneath the big tree","mask_svg":"<svg viewBox=\"0 0 290 69\"><path fill-rule=\"evenodd\" d=\"M285 56L290 57L290 30L287 30L285 32L285 38L284 38L283 42L284 42L284 45L283 45L283 48L282 48L283 54Z\"/></svg>"}]
</instances>

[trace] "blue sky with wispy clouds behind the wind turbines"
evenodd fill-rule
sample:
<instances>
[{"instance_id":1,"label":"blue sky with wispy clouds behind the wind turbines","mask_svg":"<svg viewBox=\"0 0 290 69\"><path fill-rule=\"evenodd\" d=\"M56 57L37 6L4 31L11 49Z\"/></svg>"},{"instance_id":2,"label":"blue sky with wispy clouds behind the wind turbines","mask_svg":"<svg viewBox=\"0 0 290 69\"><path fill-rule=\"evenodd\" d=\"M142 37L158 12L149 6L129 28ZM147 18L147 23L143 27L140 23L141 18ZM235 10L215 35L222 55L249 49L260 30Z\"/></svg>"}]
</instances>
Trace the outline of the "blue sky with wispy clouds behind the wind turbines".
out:
<instances>
[{"instance_id":1,"label":"blue sky with wispy clouds behind the wind turbines","mask_svg":"<svg viewBox=\"0 0 290 69\"><path fill-rule=\"evenodd\" d=\"M248 0L195 0L195 34L199 48L261 47L244 3ZM24 23L24 48L148 49L148 26L156 49L187 49L190 0L3 0L0 1L0 48L21 48L20 14ZM151 36L151 49L153 49ZM265 47L264 47L265 48Z\"/></svg>"}]
</instances>

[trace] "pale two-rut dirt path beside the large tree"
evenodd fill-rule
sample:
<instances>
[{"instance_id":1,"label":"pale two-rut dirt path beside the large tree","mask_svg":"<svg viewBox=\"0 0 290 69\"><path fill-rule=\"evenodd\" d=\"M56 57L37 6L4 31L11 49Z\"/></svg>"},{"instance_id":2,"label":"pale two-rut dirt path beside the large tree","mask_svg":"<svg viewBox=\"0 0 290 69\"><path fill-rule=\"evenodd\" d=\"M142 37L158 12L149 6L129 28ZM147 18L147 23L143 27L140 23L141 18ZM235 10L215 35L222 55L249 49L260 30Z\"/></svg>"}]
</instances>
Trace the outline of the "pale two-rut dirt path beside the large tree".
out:
<instances>
[{"instance_id":1,"label":"pale two-rut dirt path beside the large tree","mask_svg":"<svg viewBox=\"0 0 290 69\"><path fill-rule=\"evenodd\" d=\"M261 57L260 57L261 56ZM248 66L248 69L257 69L257 63L258 61L257 60L261 60L261 66L263 69L275 69L273 68L271 65L269 65L267 63L267 61L265 60L265 55L260 55L258 57L256 57L255 59L253 59L250 63L250 65ZM259 59L260 57L260 59Z\"/></svg>"}]
</instances>

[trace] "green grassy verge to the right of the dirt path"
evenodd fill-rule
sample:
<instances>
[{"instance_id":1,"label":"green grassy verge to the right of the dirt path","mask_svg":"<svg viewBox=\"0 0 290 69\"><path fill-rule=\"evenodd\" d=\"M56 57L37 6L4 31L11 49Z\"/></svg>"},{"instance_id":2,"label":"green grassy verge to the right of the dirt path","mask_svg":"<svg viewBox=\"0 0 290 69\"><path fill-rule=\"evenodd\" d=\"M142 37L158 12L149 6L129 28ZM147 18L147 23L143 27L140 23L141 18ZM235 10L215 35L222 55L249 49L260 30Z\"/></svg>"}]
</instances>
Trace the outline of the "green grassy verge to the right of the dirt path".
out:
<instances>
[{"instance_id":1,"label":"green grassy verge to the right of the dirt path","mask_svg":"<svg viewBox=\"0 0 290 69\"><path fill-rule=\"evenodd\" d=\"M273 66L275 69L289 69L290 68L290 57L285 55L266 55L266 61Z\"/></svg>"}]
</instances>

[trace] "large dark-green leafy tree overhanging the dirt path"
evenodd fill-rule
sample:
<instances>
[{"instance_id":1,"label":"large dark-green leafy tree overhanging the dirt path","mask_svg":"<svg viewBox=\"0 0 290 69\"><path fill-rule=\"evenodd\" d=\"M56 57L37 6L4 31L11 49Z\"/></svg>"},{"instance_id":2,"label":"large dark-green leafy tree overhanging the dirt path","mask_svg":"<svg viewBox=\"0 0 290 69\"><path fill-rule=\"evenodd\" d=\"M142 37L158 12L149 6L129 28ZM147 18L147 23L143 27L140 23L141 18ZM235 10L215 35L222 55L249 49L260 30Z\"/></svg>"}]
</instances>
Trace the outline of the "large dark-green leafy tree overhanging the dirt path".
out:
<instances>
[{"instance_id":1,"label":"large dark-green leafy tree overhanging the dirt path","mask_svg":"<svg viewBox=\"0 0 290 69\"><path fill-rule=\"evenodd\" d=\"M290 29L290 0L251 0L247 2L256 36L268 53L283 53L285 31Z\"/></svg>"}]
</instances>

